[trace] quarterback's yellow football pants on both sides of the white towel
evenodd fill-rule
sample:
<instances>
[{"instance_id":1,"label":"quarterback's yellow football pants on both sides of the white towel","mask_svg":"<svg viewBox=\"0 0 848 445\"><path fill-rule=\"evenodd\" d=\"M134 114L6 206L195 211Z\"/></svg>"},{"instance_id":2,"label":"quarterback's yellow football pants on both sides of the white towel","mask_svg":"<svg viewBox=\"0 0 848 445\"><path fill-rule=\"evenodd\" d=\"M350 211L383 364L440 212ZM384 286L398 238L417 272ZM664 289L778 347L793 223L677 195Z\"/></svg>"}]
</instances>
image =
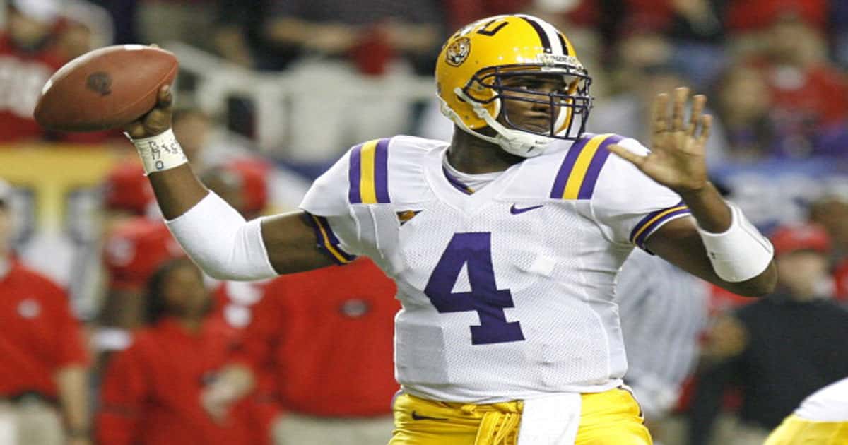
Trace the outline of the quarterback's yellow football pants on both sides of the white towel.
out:
<instances>
[{"instance_id":1,"label":"quarterback's yellow football pants on both sides of the white towel","mask_svg":"<svg viewBox=\"0 0 848 445\"><path fill-rule=\"evenodd\" d=\"M410 394L394 401L389 445L516 445L521 401L475 405ZM575 445L651 445L639 404L623 389L583 394Z\"/></svg>"}]
</instances>

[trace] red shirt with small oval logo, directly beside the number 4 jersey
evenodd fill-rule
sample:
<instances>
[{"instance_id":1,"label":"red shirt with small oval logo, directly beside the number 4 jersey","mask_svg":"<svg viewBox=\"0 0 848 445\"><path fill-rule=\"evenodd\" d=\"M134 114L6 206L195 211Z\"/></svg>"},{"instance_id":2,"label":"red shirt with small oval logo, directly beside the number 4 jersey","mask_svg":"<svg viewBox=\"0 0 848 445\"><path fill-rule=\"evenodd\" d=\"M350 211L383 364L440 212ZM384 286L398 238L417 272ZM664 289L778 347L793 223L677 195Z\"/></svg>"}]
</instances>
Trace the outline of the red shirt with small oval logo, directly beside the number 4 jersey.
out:
<instances>
[{"instance_id":1,"label":"red shirt with small oval logo, directly beside the number 4 jersey","mask_svg":"<svg viewBox=\"0 0 848 445\"><path fill-rule=\"evenodd\" d=\"M396 287L370 259L265 287L245 330L249 362L271 367L285 409L321 417L392 412Z\"/></svg>"}]
</instances>

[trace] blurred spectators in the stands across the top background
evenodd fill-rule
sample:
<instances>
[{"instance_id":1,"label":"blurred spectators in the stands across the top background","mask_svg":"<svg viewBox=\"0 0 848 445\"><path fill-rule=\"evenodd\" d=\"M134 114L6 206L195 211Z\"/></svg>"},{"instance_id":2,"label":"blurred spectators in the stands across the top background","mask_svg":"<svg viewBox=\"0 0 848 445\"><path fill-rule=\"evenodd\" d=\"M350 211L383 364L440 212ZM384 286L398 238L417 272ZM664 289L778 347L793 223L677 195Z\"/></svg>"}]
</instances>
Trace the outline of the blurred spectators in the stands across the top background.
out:
<instances>
[{"instance_id":1,"label":"blurred spectators in the stands across the top background","mask_svg":"<svg viewBox=\"0 0 848 445\"><path fill-rule=\"evenodd\" d=\"M710 94L720 124L713 136L713 162L843 157L848 140L848 6L839 1L8 3L0 41L7 90L0 141L5 142L102 142L107 135L42 134L30 112L47 75L103 44L187 42L251 70L307 77L339 73L378 78L397 70L428 76L444 36L457 26L514 12L548 19L572 38L593 75L597 106L592 123L598 131L641 136L644 125L628 118L644 115L646 98L656 91L684 84ZM338 144L338 153L349 142L346 133L358 136L361 127L373 127L375 120L387 133L427 129L427 114L422 118L408 103L357 100L360 110L372 101L378 104L345 113L350 109L345 100L321 103L329 107L323 113L329 117L315 119L305 131L313 145ZM298 109L310 114L309 103L298 104ZM317 130L329 134L321 138L315 136L322 133Z\"/></svg>"}]
</instances>

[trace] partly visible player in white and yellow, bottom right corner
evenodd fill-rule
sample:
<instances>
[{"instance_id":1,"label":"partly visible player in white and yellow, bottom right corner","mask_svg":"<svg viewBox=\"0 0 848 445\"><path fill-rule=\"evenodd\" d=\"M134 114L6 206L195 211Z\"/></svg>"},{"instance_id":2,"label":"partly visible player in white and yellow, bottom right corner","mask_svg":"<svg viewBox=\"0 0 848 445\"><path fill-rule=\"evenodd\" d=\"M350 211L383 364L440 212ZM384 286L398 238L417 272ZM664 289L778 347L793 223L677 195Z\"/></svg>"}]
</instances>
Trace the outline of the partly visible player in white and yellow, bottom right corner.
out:
<instances>
[{"instance_id":1,"label":"partly visible player in white and yellow, bottom right corner","mask_svg":"<svg viewBox=\"0 0 848 445\"><path fill-rule=\"evenodd\" d=\"M795 413L763 445L848 443L848 378L823 387L801 402Z\"/></svg>"}]
</instances>

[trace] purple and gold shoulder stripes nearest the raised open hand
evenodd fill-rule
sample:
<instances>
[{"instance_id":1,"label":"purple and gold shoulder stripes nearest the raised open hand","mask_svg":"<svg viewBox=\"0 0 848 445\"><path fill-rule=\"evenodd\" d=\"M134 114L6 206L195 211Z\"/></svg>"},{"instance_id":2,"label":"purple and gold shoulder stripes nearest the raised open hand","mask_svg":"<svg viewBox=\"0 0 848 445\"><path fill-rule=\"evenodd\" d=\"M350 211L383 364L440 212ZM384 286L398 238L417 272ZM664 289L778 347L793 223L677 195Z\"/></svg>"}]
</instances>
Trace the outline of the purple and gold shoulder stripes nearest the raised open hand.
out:
<instances>
[{"instance_id":1,"label":"purple and gold shoulder stripes nearest the raised open hand","mask_svg":"<svg viewBox=\"0 0 848 445\"><path fill-rule=\"evenodd\" d=\"M610 157L607 149L621 142L622 136L613 134L583 136L568 149L557 172L550 197L554 199L591 199L598 183L600 170Z\"/></svg>"}]
</instances>

